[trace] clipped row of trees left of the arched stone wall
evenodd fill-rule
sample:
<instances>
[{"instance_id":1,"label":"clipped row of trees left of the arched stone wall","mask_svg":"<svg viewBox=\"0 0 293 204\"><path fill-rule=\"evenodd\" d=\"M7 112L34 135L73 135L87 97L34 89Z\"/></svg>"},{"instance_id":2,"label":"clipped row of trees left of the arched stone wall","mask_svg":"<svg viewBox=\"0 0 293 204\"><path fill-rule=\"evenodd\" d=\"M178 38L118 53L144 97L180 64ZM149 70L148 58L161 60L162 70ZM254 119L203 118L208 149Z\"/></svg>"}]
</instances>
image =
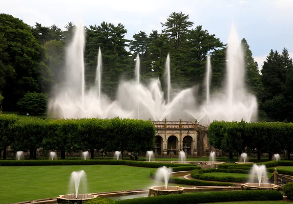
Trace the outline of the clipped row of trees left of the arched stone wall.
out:
<instances>
[{"instance_id":1,"label":"clipped row of trees left of the arched stone wall","mask_svg":"<svg viewBox=\"0 0 293 204\"><path fill-rule=\"evenodd\" d=\"M19 118L0 114L0 152L6 159L6 148L30 151L36 159L37 149L65 152L90 151L143 151L154 145L155 129L151 121L134 119L40 119Z\"/></svg>"}]
</instances>

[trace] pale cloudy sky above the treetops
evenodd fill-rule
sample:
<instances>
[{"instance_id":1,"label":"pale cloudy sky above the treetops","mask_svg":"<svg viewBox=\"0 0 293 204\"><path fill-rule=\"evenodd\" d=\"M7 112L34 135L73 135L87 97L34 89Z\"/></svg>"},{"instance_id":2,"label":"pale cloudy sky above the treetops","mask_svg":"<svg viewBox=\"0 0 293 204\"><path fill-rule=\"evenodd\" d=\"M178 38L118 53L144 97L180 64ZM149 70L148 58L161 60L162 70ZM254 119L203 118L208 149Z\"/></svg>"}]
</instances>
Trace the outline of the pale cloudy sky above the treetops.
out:
<instances>
[{"instance_id":1,"label":"pale cloudy sky above the treetops","mask_svg":"<svg viewBox=\"0 0 293 204\"><path fill-rule=\"evenodd\" d=\"M29 25L123 23L127 39L139 31L161 31L160 22L179 11L223 43L233 23L259 68L271 49L281 52L286 47L293 57L293 0L0 0L0 13Z\"/></svg>"}]
</instances>

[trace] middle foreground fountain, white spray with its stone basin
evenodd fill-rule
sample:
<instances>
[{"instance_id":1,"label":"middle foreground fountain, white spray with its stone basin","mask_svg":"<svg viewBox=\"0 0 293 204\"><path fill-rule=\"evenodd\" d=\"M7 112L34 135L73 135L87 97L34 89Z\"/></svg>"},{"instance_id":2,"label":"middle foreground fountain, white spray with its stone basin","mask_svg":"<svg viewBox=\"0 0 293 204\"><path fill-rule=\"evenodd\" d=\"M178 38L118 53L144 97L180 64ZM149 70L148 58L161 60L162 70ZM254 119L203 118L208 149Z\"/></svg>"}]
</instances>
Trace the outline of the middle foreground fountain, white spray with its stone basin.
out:
<instances>
[{"instance_id":1,"label":"middle foreground fountain, white spray with its stone basin","mask_svg":"<svg viewBox=\"0 0 293 204\"><path fill-rule=\"evenodd\" d=\"M182 193L186 192L184 187L168 186L168 181L169 181L169 177L170 177L171 172L172 172L172 169L167 168L166 166L158 168L155 179L158 181L163 180L165 182L165 185L153 186L151 188L148 188L148 190L149 190L148 196L182 194Z\"/></svg>"}]
</instances>

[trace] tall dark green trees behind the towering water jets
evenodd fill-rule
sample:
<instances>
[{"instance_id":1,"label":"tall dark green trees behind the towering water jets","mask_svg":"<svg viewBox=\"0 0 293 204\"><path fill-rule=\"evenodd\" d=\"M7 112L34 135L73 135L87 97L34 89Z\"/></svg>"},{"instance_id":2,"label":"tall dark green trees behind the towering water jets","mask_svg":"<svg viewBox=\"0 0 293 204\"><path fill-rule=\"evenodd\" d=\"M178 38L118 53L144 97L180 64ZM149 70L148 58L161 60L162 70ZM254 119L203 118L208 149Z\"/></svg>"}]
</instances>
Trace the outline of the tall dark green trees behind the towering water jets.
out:
<instances>
[{"instance_id":1,"label":"tall dark green trees behind the towering water jets","mask_svg":"<svg viewBox=\"0 0 293 204\"><path fill-rule=\"evenodd\" d=\"M206 57L210 53L211 92L221 89L225 82L227 45L203 26L194 25L182 12L171 13L161 25L161 31L138 31L132 40L125 38L127 30L121 23L85 26L86 84L94 83L101 47L102 91L111 98L115 97L120 78L133 77L136 54L141 58L141 79L147 82L152 77L163 78L167 53L170 53L173 88L198 84L197 98L203 100L202 82ZM3 110L44 113L48 94L54 92L51 87L62 82L65 47L74 29L71 22L62 30L56 25L46 27L41 23L29 26L11 15L0 14L0 93L4 97L0 95L0 102L3 99ZM288 50L284 48L282 53L271 50L260 73L247 41L242 39L241 43L246 55L246 85L257 96L260 120L293 121L293 62Z\"/></svg>"}]
</instances>

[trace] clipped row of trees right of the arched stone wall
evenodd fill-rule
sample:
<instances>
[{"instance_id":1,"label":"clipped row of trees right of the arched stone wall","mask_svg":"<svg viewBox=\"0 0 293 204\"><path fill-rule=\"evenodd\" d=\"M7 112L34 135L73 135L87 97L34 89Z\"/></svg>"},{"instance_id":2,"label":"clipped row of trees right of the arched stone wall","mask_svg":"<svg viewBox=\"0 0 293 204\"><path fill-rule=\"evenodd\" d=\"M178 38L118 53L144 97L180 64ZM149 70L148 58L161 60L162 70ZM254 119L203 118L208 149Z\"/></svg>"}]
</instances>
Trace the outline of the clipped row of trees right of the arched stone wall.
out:
<instances>
[{"instance_id":1,"label":"clipped row of trees right of the arched stone wall","mask_svg":"<svg viewBox=\"0 0 293 204\"><path fill-rule=\"evenodd\" d=\"M261 153L272 154L287 151L287 159L293 151L293 123L279 122L224 122L214 121L209 125L210 144L224 152L239 153L257 151L257 159Z\"/></svg>"}]
</instances>

